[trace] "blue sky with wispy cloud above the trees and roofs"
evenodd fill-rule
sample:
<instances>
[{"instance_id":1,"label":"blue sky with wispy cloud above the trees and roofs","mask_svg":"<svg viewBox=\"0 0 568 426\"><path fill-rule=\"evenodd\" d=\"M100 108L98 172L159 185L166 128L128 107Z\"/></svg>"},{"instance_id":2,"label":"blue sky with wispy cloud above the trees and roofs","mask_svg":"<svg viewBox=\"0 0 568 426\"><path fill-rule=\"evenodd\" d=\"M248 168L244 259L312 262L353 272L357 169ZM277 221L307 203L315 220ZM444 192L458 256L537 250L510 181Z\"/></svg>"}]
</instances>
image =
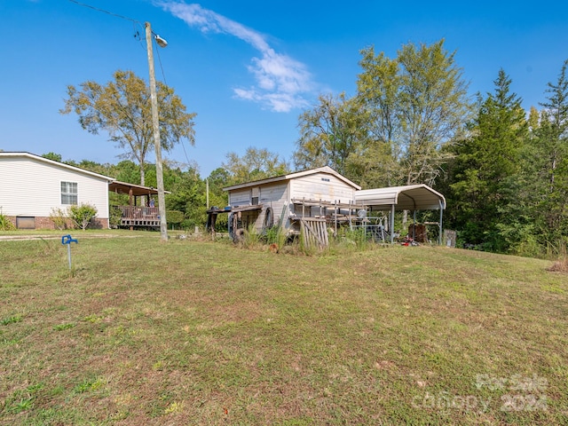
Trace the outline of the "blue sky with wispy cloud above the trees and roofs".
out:
<instances>
[{"instance_id":1,"label":"blue sky with wispy cloud above the trees and roofs","mask_svg":"<svg viewBox=\"0 0 568 426\"><path fill-rule=\"evenodd\" d=\"M0 0L0 149L119 162L122 150L106 133L91 135L59 109L67 84L106 83L117 69L147 79L146 20L169 43L154 50L156 77L197 113L195 146L163 154L196 163L201 177L248 146L288 160L299 114L319 94L352 96L359 51L370 45L394 58L405 43L444 38L472 95L493 91L502 67L527 109L545 100L547 83L556 83L568 59L568 3L561 0L80 3L140 24L68 0Z\"/></svg>"}]
</instances>

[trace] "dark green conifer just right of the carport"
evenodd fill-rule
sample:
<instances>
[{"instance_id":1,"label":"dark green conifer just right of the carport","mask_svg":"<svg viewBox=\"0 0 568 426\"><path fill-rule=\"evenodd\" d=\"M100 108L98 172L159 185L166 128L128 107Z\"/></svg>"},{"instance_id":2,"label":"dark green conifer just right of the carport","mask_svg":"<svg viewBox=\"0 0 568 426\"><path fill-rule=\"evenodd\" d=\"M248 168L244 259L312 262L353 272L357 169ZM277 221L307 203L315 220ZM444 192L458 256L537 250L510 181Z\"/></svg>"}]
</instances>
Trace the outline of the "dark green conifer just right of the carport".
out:
<instances>
[{"instance_id":1,"label":"dark green conifer just right of the carport","mask_svg":"<svg viewBox=\"0 0 568 426\"><path fill-rule=\"evenodd\" d=\"M463 240L508 251L516 242L511 231L518 236L527 225L516 221L524 200L519 177L528 126L521 99L510 91L511 80L502 69L494 83L494 93L481 101L472 122L472 136L452 147L455 180L448 205Z\"/></svg>"}]
</instances>

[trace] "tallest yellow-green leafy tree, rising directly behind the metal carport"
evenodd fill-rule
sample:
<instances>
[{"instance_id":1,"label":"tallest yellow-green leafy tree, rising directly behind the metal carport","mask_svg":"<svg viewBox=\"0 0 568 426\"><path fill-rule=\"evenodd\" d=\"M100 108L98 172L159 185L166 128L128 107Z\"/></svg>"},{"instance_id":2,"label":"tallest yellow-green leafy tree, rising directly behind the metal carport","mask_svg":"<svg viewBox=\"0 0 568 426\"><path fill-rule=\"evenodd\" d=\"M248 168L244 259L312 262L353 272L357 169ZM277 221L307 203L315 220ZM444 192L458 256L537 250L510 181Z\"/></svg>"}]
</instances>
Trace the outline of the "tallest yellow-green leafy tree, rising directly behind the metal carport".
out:
<instances>
[{"instance_id":1,"label":"tallest yellow-green leafy tree, rising directly behind the metal carport","mask_svg":"<svg viewBox=\"0 0 568 426\"><path fill-rule=\"evenodd\" d=\"M373 144L386 146L398 168L391 185L427 183L439 176L440 147L461 138L469 118L468 84L444 40L430 46L405 44L397 59L373 48L362 51L358 97L371 117ZM375 150L376 151L376 150Z\"/></svg>"}]
</instances>

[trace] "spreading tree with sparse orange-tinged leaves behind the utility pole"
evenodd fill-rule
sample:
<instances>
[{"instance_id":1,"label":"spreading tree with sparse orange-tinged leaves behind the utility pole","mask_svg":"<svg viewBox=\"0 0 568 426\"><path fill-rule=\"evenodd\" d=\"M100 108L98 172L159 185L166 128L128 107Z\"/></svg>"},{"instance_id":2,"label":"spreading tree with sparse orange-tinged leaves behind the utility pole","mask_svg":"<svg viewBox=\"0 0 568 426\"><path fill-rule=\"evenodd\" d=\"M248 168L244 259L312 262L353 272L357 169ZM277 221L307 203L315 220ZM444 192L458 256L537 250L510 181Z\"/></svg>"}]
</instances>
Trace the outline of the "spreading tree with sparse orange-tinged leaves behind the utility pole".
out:
<instances>
[{"instance_id":1,"label":"spreading tree with sparse orange-tinged leaves behind the utility pole","mask_svg":"<svg viewBox=\"0 0 568 426\"><path fill-rule=\"evenodd\" d=\"M193 113L185 113L185 106L174 90L157 83L160 114L160 138L164 151L187 139L194 145ZM118 70L114 81L100 85L87 81L67 86L65 107L61 114L75 112L84 130L99 134L105 130L110 140L125 150L122 158L138 163L140 184L145 185L146 156L154 149L150 89L146 82L131 71Z\"/></svg>"}]
</instances>

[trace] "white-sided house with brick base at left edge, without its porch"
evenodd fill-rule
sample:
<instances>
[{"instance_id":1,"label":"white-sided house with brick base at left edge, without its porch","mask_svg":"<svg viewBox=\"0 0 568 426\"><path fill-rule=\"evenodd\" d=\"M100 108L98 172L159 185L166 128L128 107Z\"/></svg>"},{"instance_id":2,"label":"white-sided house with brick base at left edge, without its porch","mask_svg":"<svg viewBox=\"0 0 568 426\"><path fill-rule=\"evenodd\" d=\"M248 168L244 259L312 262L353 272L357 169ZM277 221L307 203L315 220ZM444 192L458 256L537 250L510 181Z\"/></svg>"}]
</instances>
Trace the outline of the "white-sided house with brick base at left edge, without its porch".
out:
<instances>
[{"instance_id":1,"label":"white-sided house with brick base at left edge, without its porch","mask_svg":"<svg viewBox=\"0 0 568 426\"><path fill-rule=\"evenodd\" d=\"M108 184L114 179L35 154L0 152L0 213L18 228L53 228L54 209L88 203L108 228Z\"/></svg>"}]
</instances>

